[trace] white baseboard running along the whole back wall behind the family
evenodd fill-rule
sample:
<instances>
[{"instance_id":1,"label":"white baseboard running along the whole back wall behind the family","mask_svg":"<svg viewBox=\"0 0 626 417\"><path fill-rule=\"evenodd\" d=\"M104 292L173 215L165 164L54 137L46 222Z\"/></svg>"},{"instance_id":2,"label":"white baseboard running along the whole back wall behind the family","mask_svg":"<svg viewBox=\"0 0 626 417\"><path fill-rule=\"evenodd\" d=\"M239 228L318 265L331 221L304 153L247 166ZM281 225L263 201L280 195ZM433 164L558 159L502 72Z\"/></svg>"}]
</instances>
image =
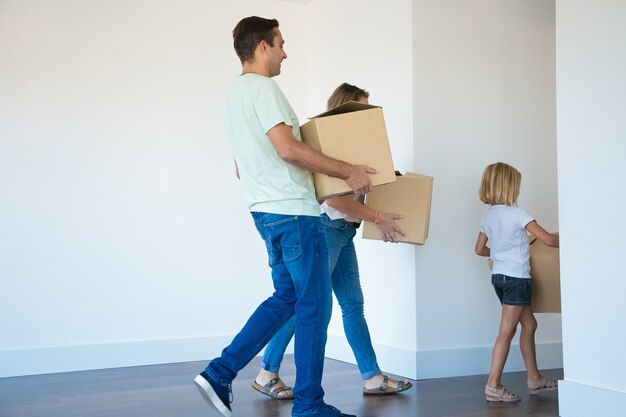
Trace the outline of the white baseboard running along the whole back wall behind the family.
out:
<instances>
[{"instance_id":1,"label":"white baseboard running along the whole back wall behind the family","mask_svg":"<svg viewBox=\"0 0 626 417\"><path fill-rule=\"evenodd\" d=\"M211 336L5 350L0 351L0 377L203 361L218 356L231 340L232 336ZM410 379L485 374L491 362L490 346L415 352L374 344L374 350L384 372ZM287 353L293 353L291 346ZM343 335L328 335L326 356L356 363ZM561 343L538 344L537 358L541 369L562 368ZM512 346L505 372L522 370L519 347Z\"/></svg>"}]
</instances>

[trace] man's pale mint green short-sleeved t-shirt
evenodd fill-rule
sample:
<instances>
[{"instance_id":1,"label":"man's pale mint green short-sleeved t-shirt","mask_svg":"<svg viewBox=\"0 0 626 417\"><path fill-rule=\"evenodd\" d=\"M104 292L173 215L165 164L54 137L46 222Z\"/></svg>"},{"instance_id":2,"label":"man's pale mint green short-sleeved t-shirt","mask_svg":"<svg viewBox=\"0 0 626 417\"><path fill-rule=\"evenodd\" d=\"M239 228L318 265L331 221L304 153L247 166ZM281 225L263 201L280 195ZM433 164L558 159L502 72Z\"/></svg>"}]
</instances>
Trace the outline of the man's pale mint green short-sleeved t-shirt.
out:
<instances>
[{"instance_id":1,"label":"man's pale mint green short-sleeved t-shirt","mask_svg":"<svg viewBox=\"0 0 626 417\"><path fill-rule=\"evenodd\" d=\"M278 85L259 74L235 78L226 105L226 132L250 211L319 216L311 173L278 156L267 132L285 123L299 141L300 125Z\"/></svg>"}]
</instances>

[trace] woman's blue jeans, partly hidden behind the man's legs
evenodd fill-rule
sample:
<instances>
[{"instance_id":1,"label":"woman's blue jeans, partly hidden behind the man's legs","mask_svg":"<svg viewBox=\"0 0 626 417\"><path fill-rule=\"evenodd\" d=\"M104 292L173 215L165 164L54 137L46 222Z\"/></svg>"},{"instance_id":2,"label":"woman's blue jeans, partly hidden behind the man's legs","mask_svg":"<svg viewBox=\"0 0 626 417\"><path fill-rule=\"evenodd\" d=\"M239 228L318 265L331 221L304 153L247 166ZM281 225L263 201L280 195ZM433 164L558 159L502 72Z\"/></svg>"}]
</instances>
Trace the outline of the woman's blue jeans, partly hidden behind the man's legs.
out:
<instances>
[{"instance_id":1,"label":"woman's blue jeans, partly hidden behind the man's legs","mask_svg":"<svg viewBox=\"0 0 626 417\"><path fill-rule=\"evenodd\" d=\"M342 220L331 220L325 214L322 214L321 218L324 237L328 245L328 262L333 291L341 306L344 332L356 358L361 378L369 379L380 374L381 371L363 314L363 291L361 291L359 265L353 242L356 229ZM270 372L279 371L285 349L293 334L294 319L292 318L285 323L265 348L261 361L263 369ZM297 331L296 334L298 334Z\"/></svg>"}]
</instances>

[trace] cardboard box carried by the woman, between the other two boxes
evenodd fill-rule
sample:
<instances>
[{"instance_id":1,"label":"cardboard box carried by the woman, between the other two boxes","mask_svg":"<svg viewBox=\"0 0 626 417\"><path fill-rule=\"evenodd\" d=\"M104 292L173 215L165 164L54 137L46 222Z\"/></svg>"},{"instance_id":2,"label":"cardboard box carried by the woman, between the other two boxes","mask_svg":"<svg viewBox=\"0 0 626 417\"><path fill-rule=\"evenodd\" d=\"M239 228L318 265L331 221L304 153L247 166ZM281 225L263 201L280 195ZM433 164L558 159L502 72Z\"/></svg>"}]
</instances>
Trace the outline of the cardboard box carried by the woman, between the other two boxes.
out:
<instances>
[{"instance_id":1,"label":"cardboard box carried by the woman, between the other two boxes","mask_svg":"<svg viewBox=\"0 0 626 417\"><path fill-rule=\"evenodd\" d=\"M404 215L396 223L406 236L397 235L400 242L423 245L428 237L433 177L407 172L396 181L375 187L365 196L365 205L383 212ZM378 227L364 222L363 239L383 240Z\"/></svg>"}]
</instances>

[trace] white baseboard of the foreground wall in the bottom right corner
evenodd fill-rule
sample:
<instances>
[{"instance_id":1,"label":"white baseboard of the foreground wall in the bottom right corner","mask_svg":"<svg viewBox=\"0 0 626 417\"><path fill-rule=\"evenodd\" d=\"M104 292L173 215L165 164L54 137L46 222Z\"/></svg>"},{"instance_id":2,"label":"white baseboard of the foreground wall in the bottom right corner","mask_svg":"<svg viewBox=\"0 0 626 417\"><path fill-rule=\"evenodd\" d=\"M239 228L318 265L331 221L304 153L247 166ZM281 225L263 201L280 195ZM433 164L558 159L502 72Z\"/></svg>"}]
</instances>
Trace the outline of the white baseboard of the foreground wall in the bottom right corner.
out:
<instances>
[{"instance_id":1,"label":"white baseboard of the foreground wall in the bottom right corner","mask_svg":"<svg viewBox=\"0 0 626 417\"><path fill-rule=\"evenodd\" d=\"M621 417L625 410L626 393L559 381L561 417Z\"/></svg>"}]
</instances>

